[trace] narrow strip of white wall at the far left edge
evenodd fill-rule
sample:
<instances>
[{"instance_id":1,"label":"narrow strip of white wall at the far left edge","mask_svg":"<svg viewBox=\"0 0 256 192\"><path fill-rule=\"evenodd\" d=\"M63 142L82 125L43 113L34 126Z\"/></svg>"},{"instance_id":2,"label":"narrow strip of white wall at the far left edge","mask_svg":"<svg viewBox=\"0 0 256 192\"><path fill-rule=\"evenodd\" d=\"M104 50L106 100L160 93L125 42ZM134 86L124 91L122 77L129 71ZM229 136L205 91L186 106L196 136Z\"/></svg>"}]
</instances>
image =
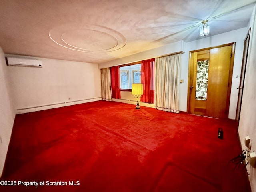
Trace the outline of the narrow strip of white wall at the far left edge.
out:
<instances>
[{"instance_id":1,"label":"narrow strip of white wall at the far left edge","mask_svg":"<svg viewBox=\"0 0 256 192\"><path fill-rule=\"evenodd\" d=\"M9 82L9 69L6 66L4 52L0 47L0 176L4 168L15 118Z\"/></svg>"}]
</instances>

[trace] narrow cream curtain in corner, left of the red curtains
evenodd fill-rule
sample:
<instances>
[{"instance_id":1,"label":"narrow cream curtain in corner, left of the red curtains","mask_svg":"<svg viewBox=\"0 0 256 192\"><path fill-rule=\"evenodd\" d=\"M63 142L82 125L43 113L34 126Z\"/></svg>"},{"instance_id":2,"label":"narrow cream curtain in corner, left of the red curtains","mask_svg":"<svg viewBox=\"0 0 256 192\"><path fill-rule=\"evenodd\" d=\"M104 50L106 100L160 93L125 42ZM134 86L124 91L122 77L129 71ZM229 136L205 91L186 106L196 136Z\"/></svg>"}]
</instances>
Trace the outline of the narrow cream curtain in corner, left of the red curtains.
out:
<instances>
[{"instance_id":1,"label":"narrow cream curtain in corner, left of the red curtains","mask_svg":"<svg viewBox=\"0 0 256 192\"><path fill-rule=\"evenodd\" d=\"M103 68L100 70L100 73L102 100L112 101L110 68Z\"/></svg>"}]
</instances>

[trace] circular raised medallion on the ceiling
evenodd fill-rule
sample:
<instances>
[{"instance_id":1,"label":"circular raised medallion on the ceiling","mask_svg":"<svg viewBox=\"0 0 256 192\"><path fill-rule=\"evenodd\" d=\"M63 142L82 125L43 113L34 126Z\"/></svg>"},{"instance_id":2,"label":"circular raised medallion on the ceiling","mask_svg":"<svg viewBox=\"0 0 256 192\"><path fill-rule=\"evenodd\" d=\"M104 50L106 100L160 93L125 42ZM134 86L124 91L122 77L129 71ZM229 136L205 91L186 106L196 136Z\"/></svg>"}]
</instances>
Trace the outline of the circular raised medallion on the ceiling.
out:
<instances>
[{"instance_id":1,"label":"circular raised medallion on the ceiling","mask_svg":"<svg viewBox=\"0 0 256 192\"><path fill-rule=\"evenodd\" d=\"M50 30L49 36L56 44L81 52L111 52L126 44L119 32L94 24L60 25Z\"/></svg>"}]
</instances>

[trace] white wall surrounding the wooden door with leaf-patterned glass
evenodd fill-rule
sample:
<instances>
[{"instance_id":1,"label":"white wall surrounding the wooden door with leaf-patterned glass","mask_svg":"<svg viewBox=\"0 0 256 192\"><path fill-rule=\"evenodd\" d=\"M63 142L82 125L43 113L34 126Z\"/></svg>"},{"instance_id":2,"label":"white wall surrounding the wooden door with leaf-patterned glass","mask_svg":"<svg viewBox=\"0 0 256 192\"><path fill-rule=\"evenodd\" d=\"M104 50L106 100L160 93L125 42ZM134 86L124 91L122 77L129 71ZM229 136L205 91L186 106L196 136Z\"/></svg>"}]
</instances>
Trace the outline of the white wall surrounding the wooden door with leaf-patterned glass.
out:
<instances>
[{"instance_id":1,"label":"white wall surrounding the wooden door with leaf-patterned glass","mask_svg":"<svg viewBox=\"0 0 256 192\"><path fill-rule=\"evenodd\" d=\"M236 87L239 86L241 64L244 49L244 38L247 34L247 28L242 28L223 34L202 38L200 40L186 43L186 51L182 54L182 66L180 79L184 79L184 83L180 84L180 110L187 110L187 95L188 95L188 60L189 52L202 48L214 47L222 44L228 44L236 42L235 56L234 56L234 68L232 76L231 96L230 96L230 107L228 118L236 118L236 106L238 99L238 90Z\"/></svg>"}]
</instances>

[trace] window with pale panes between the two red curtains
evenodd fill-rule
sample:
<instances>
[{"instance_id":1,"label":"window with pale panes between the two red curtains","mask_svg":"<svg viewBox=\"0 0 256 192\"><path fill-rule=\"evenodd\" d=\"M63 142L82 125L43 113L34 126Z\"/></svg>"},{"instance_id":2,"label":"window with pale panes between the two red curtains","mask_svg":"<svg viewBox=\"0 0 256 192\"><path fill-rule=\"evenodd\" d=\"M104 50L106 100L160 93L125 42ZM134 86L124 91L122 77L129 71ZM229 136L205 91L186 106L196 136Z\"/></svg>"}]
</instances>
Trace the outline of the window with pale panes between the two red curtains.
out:
<instances>
[{"instance_id":1,"label":"window with pale panes between the two red curtains","mask_svg":"<svg viewBox=\"0 0 256 192\"><path fill-rule=\"evenodd\" d=\"M140 63L119 68L121 89L132 89L133 83L141 83Z\"/></svg>"}]
</instances>

